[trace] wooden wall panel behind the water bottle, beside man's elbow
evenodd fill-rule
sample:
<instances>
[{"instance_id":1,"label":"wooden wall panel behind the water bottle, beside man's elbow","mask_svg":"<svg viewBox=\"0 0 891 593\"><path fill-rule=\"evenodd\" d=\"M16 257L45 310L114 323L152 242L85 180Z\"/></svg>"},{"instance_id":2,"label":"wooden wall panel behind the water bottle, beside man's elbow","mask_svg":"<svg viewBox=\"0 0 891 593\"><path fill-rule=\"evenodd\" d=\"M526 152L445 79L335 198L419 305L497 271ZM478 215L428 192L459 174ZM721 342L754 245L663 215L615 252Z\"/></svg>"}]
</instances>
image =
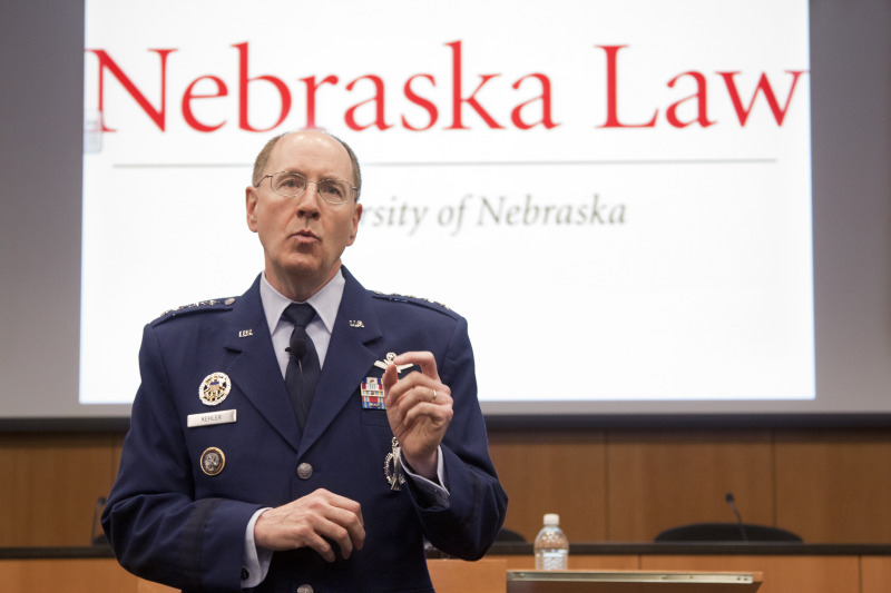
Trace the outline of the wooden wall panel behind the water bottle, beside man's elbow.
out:
<instances>
[{"instance_id":1,"label":"wooden wall panel behind the water bottle, beside man's elbow","mask_svg":"<svg viewBox=\"0 0 891 593\"><path fill-rule=\"evenodd\" d=\"M490 431L489 451L510 498L506 527L531 542L559 513L570 541L606 540L603 432Z\"/></svg>"}]
</instances>

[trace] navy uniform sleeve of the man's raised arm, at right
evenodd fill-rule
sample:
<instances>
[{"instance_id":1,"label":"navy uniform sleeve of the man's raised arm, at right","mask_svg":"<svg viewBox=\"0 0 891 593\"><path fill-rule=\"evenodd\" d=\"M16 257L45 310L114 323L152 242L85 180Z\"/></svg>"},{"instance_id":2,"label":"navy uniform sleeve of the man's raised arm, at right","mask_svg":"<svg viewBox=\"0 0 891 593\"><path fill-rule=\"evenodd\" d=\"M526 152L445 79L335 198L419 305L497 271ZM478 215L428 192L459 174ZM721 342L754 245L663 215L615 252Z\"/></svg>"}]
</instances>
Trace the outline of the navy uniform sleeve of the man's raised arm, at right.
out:
<instances>
[{"instance_id":1,"label":"navy uniform sleeve of the man's raised arm, at right","mask_svg":"<svg viewBox=\"0 0 891 593\"><path fill-rule=\"evenodd\" d=\"M508 497L489 457L486 424L477 398L473 352L467 320L459 317L444 354L438 356L440 378L451 389L452 422L442 442L448 506L408 481L424 536L437 548L463 560L482 557L505 523Z\"/></svg>"}]
</instances>

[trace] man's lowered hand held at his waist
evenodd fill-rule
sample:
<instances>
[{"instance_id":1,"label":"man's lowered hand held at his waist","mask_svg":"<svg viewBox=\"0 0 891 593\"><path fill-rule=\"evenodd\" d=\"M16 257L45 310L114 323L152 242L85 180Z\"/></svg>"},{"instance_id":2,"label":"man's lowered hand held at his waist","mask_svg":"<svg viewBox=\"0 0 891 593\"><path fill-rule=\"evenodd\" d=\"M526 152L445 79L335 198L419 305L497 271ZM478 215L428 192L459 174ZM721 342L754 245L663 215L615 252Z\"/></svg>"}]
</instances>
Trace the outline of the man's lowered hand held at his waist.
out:
<instances>
[{"instance_id":1,"label":"man's lowered hand held at his waist","mask_svg":"<svg viewBox=\"0 0 891 593\"><path fill-rule=\"evenodd\" d=\"M334 562L336 542L344 559L362 550L365 522L355 501L324 488L286 505L265 511L254 525L254 543L267 550L312 547L327 562Z\"/></svg>"}]
</instances>

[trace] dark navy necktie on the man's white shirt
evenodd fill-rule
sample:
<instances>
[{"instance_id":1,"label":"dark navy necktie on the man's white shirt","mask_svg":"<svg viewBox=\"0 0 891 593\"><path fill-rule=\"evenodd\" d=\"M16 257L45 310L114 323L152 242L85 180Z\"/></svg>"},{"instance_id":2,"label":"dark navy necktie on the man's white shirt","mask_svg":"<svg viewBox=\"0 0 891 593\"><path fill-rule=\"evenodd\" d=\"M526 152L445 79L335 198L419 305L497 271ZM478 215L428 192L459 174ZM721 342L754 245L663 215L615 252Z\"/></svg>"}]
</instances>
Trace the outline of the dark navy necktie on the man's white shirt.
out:
<instances>
[{"instance_id":1,"label":"dark navy necktie on the man's white shirt","mask_svg":"<svg viewBox=\"0 0 891 593\"><path fill-rule=\"evenodd\" d=\"M315 385L322 368L319 364L319 354L315 345L306 334L306 326L315 317L315 309L305 303L292 303L282 316L294 324L291 334L291 345L287 347L288 360L285 372L285 384L291 396L291 404L297 416L301 432L306 426L310 415L310 405L313 402Z\"/></svg>"}]
</instances>

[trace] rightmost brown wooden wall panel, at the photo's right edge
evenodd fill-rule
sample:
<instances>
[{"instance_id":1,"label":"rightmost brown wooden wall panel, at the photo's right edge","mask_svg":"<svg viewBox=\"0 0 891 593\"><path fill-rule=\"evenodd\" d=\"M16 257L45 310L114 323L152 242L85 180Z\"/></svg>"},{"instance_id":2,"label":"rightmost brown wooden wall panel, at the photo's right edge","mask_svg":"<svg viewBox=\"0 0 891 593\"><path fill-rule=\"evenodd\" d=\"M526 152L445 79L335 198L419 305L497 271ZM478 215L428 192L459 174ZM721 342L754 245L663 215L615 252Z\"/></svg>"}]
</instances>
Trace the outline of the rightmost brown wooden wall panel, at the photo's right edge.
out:
<instances>
[{"instance_id":1,"label":"rightmost brown wooden wall panel, at the photo's right edge","mask_svg":"<svg viewBox=\"0 0 891 593\"><path fill-rule=\"evenodd\" d=\"M809 543L891 540L891 431L776 437L777 521Z\"/></svg>"}]
</instances>

